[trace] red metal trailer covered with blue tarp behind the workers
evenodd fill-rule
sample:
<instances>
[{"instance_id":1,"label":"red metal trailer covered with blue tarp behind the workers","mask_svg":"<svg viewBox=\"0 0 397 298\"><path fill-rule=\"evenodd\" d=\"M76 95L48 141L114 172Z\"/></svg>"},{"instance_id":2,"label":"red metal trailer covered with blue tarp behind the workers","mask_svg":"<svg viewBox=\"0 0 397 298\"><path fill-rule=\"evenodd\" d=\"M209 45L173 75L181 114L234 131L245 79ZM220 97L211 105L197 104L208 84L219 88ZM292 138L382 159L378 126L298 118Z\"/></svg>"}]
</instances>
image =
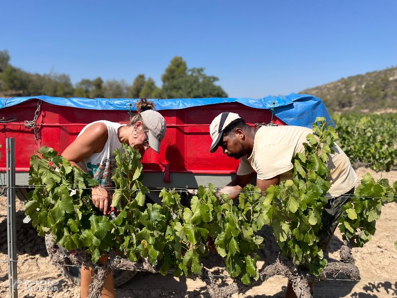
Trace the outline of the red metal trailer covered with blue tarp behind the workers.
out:
<instances>
[{"instance_id":1,"label":"red metal trailer covered with blue tarp behind the workers","mask_svg":"<svg viewBox=\"0 0 397 298\"><path fill-rule=\"evenodd\" d=\"M236 173L238 160L209 153L209 124L223 111L238 113L250 125L273 123L311 127L314 119L329 114L316 97L200 98L154 100L164 116L167 133L160 154L143 158L144 184L149 188L197 188L212 183L223 187ZM5 138L15 138L16 184L28 184L29 157L42 146L60 153L88 123L97 120L128 123L136 99L57 98L49 96L0 98L0 149ZM129 115L130 114L130 115ZM5 157L0 157L4 178ZM2 179L4 181L4 179ZM154 195L152 192L151 197Z\"/></svg>"}]
</instances>

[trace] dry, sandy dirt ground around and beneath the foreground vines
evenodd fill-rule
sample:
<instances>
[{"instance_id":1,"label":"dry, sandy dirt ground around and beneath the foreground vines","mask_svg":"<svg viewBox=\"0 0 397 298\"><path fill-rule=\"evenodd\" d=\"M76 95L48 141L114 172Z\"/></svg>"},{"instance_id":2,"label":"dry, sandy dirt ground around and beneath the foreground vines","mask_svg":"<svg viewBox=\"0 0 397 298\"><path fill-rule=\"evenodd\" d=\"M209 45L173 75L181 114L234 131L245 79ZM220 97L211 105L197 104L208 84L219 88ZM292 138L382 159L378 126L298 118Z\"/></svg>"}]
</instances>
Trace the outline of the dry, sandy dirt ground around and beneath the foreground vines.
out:
<instances>
[{"instance_id":1,"label":"dry, sandy dirt ground around and beneath the foreground vines","mask_svg":"<svg viewBox=\"0 0 397 298\"><path fill-rule=\"evenodd\" d=\"M375 173L366 168L356 170L359 177L370 171L374 177L397 180L397 171ZM8 296L8 264L7 264L7 219L5 197L0 197L0 297ZM32 225L22 223L24 219L24 202L17 199L17 254L18 280L20 298L74 298L79 297L79 287L74 286L63 277L57 267L50 263L46 252L44 238L36 235ZM325 280L316 284L314 297L318 298L386 298L397 297L397 203L386 204L381 219L377 222L377 231L372 241L363 248L353 249L356 265L360 269L360 281L346 281L344 276L336 280ZM277 246L271 236L271 230L264 229L265 248L261 251L261 259L271 262L277 256ZM341 236L338 230L331 241L327 257L338 259ZM261 264L263 265L262 261ZM222 267L222 260L211 255L205 260L205 266L212 268L220 275L219 283L227 284L230 280L222 275L227 272ZM38 282L39 285L34 285ZM40 284L41 283L41 284ZM277 298L285 296L287 280L271 278L262 286L246 293L235 294L233 297ZM41 288L40 288L41 286ZM51 291L52 290L52 291ZM116 289L119 298L140 297L208 297L205 284L198 280L174 278L172 275L163 277L147 273L137 274L130 282Z\"/></svg>"}]
</instances>

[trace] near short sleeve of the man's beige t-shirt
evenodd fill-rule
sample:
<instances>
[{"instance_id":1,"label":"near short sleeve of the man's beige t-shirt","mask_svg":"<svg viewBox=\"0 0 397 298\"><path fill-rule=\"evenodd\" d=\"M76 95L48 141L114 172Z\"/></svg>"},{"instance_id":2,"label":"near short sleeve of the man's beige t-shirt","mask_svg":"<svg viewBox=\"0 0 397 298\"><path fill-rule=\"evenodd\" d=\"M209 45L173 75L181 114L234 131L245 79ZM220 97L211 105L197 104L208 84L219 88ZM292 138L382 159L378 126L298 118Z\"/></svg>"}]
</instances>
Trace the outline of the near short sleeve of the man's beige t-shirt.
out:
<instances>
[{"instance_id":1,"label":"near short sleeve of the man's beige t-shirt","mask_svg":"<svg viewBox=\"0 0 397 298\"><path fill-rule=\"evenodd\" d=\"M287 144L272 144L257 148L255 152L255 167L257 178L270 179L293 168L291 159L294 147Z\"/></svg>"}]
</instances>

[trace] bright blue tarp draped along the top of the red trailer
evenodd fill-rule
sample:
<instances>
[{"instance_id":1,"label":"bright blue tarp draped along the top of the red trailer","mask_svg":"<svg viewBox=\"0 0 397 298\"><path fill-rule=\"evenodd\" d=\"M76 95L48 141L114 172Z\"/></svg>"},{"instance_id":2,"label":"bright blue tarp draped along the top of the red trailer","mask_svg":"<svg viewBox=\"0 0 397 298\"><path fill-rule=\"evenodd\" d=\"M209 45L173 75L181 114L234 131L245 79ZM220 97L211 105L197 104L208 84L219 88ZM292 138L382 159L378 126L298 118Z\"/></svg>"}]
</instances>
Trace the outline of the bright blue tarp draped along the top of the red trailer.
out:
<instances>
[{"instance_id":1,"label":"bright blue tarp draped along the top of the red trailer","mask_svg":"<svg viewBox=\"0 0 397 298\"><path fill-rule=\"evenodd\" d=\"M63 98L40 95L34 97L0 98L0 109L17 105L31 99L41 99L45 102L55 105L92 110L130 110L130 107L132 110L135 110L135 102L138 100L128 98ZM320 98L309 94L291 93L287 96L267 96L259 99L176 98L151 100L155 103L157 110L186 109L208 104L239 102L243 105L257 109L274 108L274 115L288 125L297 125L311 128L314 120L318 116L326 117L327 120L331 121L331 125L333 125L331 116L328 113L323 101Z\"/></svg>"}]
</instances>

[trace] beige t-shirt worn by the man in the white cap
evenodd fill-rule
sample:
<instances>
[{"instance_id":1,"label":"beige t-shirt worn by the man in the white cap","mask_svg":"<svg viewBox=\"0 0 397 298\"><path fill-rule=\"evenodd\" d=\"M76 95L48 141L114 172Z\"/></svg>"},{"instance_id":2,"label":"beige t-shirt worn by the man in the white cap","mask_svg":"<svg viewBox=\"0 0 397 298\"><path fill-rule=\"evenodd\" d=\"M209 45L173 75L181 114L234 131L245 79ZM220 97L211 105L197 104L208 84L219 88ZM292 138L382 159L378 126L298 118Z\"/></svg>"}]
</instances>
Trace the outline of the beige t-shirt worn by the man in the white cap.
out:
<instances>
[{"instance_id":1,"label":"beige t-shirt worn by the man in the white cap","mask_svg":"<svg viewBox=\"0 0 397 298\"><path fill-rule=\"evenodd\" d=\"M254 149L251 156L240 158L237 175L247 175L257 172L257 178L270 179L277 175L280 180L292 178L293 164L291 159L297 152L304 153L303 143L308 143L306 136L313 133L311 129L300 126L263 126L254 140ZM331 174L329 194L332 197L343 195L352 189L358 177L354 172L349 158L335 144L335 153L328 160Z\"/></svg>"}]
</instances>

